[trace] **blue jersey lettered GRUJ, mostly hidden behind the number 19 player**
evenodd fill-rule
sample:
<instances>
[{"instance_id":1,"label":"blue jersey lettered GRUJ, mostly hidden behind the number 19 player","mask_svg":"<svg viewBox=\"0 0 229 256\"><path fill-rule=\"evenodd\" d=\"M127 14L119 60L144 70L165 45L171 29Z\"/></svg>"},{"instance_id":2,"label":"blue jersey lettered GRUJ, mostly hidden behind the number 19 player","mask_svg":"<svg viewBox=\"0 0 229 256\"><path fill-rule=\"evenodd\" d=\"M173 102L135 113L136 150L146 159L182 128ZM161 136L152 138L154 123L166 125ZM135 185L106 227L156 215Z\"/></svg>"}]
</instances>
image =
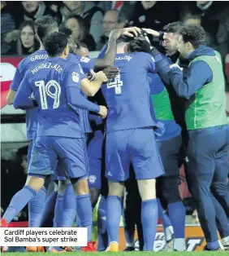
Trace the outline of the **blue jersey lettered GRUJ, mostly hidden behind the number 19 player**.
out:
<instances>
[{"instance_id":1,"label":"blue jersey lettered GRUJ, mostly hidden behind the number 19 player","mask_svg":"<svg viewBox=\"0 0 229 256\"><path fill-rule=\"evenodd\" d=\"M20 82L22 82L25 73L29 68L48 58L45 50L38 50L21 60L16 68L15 77L11 82L11 90L18 90ZM26 111L26 127L27 139L35 139L37 133L37 108L28 109Z\"/></svg>"}]
</instances>

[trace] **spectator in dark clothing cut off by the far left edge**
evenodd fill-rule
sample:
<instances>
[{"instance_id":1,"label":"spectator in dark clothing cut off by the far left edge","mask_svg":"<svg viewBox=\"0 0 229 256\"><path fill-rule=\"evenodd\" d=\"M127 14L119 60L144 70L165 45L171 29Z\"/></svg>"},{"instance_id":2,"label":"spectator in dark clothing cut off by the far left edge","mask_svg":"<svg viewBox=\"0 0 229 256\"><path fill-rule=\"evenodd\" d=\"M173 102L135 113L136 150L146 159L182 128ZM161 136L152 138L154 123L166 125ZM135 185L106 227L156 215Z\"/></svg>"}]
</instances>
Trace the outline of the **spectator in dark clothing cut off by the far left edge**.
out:
<instances>
[{"instance_id":1,"label":"spectator in dark clothing cut off by the far left edge","mask_svg":"<svg viewBox=\"0 0 229 256\"><path fill-rule=\"evenodd\" d=\"M1 55L11 55L15 53L15 44L6 42L6 36L15 29L13 19L6 1L1 2Z\"/></svg>"}]
</instances>

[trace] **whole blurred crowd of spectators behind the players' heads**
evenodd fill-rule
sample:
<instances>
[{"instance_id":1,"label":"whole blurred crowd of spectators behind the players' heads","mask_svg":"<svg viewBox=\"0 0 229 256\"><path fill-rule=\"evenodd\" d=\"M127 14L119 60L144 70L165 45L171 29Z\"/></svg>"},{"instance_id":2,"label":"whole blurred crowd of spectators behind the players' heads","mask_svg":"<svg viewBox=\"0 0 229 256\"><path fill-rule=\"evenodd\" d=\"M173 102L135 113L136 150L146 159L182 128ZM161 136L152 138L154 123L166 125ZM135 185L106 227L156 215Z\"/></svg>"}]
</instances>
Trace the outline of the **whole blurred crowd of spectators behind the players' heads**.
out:
<instances>
[{"instance_id":1,"label":"whole blurred crowd of spectators behind the players' heads","mask_svg":"<svg viewBox=\"0 0 229 256\"><path fill-rule=\"evenodd\" d=\"M228 54L229 3L224 1L2 1L1 55L37 50L33 21L42 15L54 16L90 51L100 51L112 29L135 25L159 31L181 20L201 24L206 44L223 59Z\"/></svg>"}]
</instances>

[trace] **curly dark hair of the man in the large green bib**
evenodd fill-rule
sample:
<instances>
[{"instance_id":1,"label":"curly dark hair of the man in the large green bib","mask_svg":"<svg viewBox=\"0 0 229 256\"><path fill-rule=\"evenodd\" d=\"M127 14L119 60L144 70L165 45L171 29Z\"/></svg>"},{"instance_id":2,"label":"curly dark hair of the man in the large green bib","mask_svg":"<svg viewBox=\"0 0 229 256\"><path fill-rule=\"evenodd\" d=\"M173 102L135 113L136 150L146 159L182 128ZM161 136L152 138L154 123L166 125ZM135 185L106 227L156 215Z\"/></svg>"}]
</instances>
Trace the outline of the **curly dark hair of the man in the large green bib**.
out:
<instances>
[{"instance_id":1,"label":"curly dark hair of the man in the large green bib","mask_svg":"<svg viewBox=\"0 0 229 256\"><path fill-rule=\"evenodd\" d=\"M205 29L201 25L189 24L183 27L181 35L184 42L191 42L196 49L198 46L205 44Z\"/></svg>"}]
</instances>

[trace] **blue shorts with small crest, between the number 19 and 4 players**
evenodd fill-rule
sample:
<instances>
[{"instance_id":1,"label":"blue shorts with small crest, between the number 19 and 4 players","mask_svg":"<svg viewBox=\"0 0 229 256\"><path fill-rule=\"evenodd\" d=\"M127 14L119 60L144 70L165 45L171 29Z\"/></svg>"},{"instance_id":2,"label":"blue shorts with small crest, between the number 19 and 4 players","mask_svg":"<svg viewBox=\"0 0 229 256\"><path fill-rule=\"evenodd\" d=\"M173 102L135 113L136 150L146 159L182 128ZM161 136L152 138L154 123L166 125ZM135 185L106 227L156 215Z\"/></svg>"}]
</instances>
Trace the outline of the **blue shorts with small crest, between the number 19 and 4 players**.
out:
<instances>
[{"instance_id":1,"label":"blue shorts with small crest, between the number 19 and 4 players","mask_svg":"<svg viewBox=\"0 0 229 256\"><path fill-rule=\"evenodd\" d=\"M89 135L89 188L101 188L103 138L102 130Z\"/></svg>"}]
</instances>

